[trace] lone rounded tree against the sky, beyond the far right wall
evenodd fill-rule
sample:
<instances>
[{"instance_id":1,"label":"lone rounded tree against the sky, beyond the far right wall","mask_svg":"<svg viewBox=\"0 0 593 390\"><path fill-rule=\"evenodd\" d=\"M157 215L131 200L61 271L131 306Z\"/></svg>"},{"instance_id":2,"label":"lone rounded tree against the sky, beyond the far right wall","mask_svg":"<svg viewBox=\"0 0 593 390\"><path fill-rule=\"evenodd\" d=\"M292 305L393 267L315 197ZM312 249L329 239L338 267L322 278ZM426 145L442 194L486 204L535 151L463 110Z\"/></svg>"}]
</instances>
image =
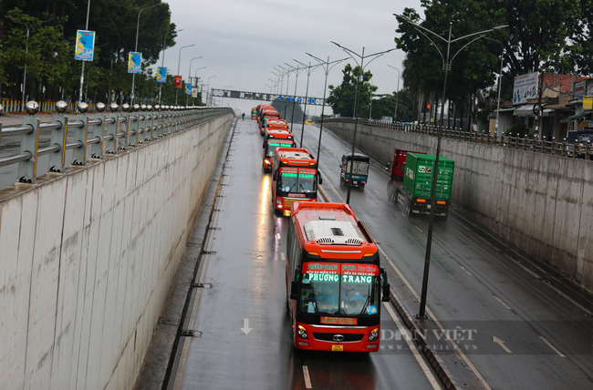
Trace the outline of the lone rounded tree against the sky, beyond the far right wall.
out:
<instances>
[{"instance_id":1,"label":"lone rounded tree against the sky, beyond the far right wall","mask_svg":"<svg viewBox=\"0 0 593 390\"><path fill-rule=\"evenodd\" d=\"M350 64L346 64L342 73L344 75L342 84L338 87L329 86L328 106L341 117L354 117L354 100L360 77L358 117L369 118L370 94L377 90L377 86L371 86L369 83L372 74L370 71L363 72L361 67L352 67Z\"/></svg>"}]
</instances>

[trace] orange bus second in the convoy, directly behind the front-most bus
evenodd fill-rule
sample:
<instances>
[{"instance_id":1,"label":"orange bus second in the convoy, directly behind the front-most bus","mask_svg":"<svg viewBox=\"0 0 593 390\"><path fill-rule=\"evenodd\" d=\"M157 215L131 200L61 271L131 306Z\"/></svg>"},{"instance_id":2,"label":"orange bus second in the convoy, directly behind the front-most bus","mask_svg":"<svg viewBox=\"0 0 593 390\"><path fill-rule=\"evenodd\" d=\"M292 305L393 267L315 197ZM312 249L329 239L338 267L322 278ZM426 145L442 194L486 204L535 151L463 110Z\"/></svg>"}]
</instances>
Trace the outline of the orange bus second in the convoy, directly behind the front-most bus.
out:
<instances>
[{"instance_id":1,"label":"orange bus second in the convoy, directly behind the front-most bus","mask_svg":"<svg viewBox=\"0 0 593 390\"><path fill-rule=\"evenodd\" d=\"M317 201L317 159L307 149L276 148L272 204L276 214L290 215L296 201Z\"/></svg>"}]
</instances>

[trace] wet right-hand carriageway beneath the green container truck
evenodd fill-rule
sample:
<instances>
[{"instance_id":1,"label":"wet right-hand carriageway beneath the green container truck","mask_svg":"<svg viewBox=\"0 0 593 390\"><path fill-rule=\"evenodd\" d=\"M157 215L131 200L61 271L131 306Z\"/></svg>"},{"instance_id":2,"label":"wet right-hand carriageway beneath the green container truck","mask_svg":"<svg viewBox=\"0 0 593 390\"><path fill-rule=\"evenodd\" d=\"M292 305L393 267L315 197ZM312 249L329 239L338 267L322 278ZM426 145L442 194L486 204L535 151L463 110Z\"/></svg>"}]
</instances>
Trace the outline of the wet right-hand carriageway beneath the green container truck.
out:
<instances>
[{"instance_id":1,"label":"wet right-hand carriageway beneath the green container truck","mask_svg":"<svg viewBox=\"0 0 593 390\"><path fill-rule=\"evenodd\" d=\"M305 128L303 146L317 155L319 128ZM332 200L346 199L338 164L350 148L323 132L320 170ZM351 191L350 205L390 262L420 292L428 218L402 216L388 202L386 185L387 172L374 164L365 190ZM443 328L474 331L475 343L465 354L490 387L593 388L590 313L462 219L436 221L433 234L428 307Z\"/></svg>"}]
</instances>

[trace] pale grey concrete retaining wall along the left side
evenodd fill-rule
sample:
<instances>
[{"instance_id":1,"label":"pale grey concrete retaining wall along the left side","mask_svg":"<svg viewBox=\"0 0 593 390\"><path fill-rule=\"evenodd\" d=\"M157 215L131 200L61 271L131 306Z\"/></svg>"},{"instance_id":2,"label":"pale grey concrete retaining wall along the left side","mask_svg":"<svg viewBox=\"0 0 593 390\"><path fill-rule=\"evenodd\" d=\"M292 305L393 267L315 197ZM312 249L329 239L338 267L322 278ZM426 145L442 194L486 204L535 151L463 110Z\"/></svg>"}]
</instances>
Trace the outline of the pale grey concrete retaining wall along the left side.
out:
<instances>
[{"instance_id":1,"label":"pale grey concrete retaining wall along the left side","mask_svg":"<svg viewBox=\"0 0 593 390\"><path fill-rule=\"evenodd\" d=\"M0 387L132 388L232 119L0 191Z\"/></svg>"}]
</instances>

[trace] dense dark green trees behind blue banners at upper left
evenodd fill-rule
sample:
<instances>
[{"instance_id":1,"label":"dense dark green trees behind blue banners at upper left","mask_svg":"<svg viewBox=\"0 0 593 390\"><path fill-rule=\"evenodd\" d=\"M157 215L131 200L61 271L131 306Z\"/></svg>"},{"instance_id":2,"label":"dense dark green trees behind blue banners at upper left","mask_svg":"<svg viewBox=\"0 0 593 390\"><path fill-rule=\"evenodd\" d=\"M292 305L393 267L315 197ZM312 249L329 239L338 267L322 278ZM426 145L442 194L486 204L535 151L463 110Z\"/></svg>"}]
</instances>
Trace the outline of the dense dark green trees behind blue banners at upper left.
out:
<instances>
[{"instance_id":1,"label":"dense dark green trees behind blue banners at upper left","mask_svg":"<svg viewBox=\"0 0 593 390\"><path fill-rule=\"evenodd\" d=\"M151 5L158 5L149 9ZM74 59L77 30L84 30L88 1L0 1L0 91L3 98L20 99L26 67L27 98L78 101L82 61ZM95 56L85 63L83 100L130 101L132 75L128 54L136 45L142 72L136 75L136 102L155 103L160 85L155 66L164 47L175 45L176 26L169 5L161 0L93 0L88 30L96 32ZM26 31L29 31L28 39ZM173 78L162 85L162 103L175 102ZM186 97L180 91L180 104Z\"/></svg>"}]
</instances>

